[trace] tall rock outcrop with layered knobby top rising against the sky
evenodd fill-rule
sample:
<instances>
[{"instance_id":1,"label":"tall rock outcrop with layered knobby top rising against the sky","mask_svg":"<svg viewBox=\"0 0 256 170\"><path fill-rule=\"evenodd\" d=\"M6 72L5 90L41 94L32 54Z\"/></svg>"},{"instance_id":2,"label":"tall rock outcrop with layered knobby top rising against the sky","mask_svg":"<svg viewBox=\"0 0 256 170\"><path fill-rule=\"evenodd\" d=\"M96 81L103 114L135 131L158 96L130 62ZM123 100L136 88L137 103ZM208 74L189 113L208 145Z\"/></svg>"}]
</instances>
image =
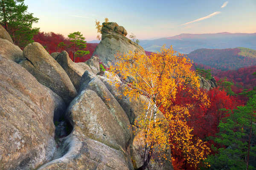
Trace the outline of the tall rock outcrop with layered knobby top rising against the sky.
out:
<instances>
[{"instance_id":1,"label":"tall rock outcrop with layered knobby top rising against the sky","mask_svg":"<svg viewBox=\"0 0 256 170\"><path fill-rule=\"evenodd\" d=\"M110 67L116 63L115 55L132 52L145 54L144 49L126 38L125 28L118 26L117 23L103 23L102 40L96 47L93 56L99 57L101 62Z\"/></svg>"}]
</instances>

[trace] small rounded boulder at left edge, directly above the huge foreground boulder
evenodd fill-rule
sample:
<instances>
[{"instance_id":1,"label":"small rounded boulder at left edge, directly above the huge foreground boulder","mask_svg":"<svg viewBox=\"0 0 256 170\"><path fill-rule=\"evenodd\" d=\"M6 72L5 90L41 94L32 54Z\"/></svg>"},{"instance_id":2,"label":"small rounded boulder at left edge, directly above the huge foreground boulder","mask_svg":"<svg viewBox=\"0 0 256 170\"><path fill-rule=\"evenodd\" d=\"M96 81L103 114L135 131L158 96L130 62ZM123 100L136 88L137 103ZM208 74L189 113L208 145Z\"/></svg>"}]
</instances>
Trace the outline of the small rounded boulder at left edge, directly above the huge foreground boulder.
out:
<instances>
[{"instance_id":1,"label":"small rounded boulder at left edge, directly above the huge foreground boulder","mask_svg":"<svg viewBox=\"0 0 256 170\"><path fill-rule=\"evenodd\" d=\"M0 38L0 55L14 62L20 62L25 59L22 50L17 45L2 38Z\"/></svg>"}]
</instances>

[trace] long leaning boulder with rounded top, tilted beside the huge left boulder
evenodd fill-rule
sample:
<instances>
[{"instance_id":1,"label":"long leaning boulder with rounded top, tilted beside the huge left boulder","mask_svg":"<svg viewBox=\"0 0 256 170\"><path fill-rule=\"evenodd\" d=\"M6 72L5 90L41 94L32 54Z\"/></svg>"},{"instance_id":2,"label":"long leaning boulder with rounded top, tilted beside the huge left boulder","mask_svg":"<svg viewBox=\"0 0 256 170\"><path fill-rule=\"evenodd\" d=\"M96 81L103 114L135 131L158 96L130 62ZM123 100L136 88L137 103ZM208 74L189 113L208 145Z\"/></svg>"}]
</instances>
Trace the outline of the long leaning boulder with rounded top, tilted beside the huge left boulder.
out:
<instances>
[{"instance_id":1,"label":"long leaning boulder with rounded top, tilted beside the huge left boulder","mask_svg":"<svg viewBox=\"0 0 256 170\"><path fill-rule=\"evenodd\" d=\"M67 73L38 42L27 45L23 50L27 60L20 62L41 84L62 97L68 104L77 95L76 88Z\"/></svg>"}]
</instances>

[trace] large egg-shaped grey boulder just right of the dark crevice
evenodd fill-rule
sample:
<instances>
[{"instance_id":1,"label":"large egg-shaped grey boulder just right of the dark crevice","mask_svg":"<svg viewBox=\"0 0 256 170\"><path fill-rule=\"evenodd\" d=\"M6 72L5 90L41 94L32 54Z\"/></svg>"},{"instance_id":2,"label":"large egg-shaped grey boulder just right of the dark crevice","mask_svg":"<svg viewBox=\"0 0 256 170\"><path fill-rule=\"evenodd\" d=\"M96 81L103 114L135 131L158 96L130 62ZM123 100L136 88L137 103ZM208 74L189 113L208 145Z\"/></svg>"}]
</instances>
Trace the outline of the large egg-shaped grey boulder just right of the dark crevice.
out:
<instances>
[{"instance_id":1,"label":"large egg-shaped grey boulder just right of the dark crevice","mask_svg":"<svg viewBox=\"0 0 256 170\"><path fill-rule=\"evenodd\" d=\"M81 91L70 103L66 115L90 139L117 150L126 150L122 127L94 91Z\"/></svg>"}]
</instances>

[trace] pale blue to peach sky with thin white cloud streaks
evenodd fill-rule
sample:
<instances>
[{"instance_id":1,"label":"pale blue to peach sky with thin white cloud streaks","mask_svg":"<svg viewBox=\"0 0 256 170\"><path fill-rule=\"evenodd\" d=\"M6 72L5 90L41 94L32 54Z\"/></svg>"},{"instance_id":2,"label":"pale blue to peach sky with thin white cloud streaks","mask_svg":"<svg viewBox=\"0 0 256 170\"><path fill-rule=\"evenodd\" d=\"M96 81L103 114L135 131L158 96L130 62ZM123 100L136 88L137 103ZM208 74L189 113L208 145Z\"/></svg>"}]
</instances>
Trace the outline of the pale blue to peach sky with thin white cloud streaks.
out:
<instances>
[{"instance_id":1,"label":"pale blue to peach sky with thin white cloud streaks","mask_svg":"<svg viewBox=\"0 0 256 170\"><path fill-rule=\"evenodd\" d=\"M107 17L138 39L178 34L256 33L256 0L25 0L40 31L80 31L96 40L95 20Z\"/></svg>"}]
</instances>

